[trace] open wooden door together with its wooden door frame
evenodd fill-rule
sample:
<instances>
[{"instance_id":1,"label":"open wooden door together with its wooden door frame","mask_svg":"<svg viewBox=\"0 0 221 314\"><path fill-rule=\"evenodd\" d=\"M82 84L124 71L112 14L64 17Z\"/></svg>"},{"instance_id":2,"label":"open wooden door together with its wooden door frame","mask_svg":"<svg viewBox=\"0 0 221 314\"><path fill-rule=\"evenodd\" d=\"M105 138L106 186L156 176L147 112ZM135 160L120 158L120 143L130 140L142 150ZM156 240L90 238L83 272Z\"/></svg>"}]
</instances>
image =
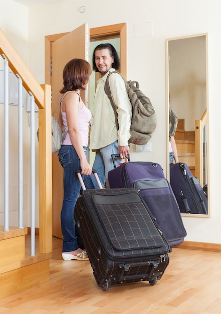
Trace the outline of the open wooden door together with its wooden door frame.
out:
<instances>
[{"instance_id":1,"label":"open wooden door together with its wooden door frame","mask_svg":"<svg viewBox=\"0 0 221 314\"><path fill-rule=\"evenodd\" d=\"M45 83L52 85L52 112L54 112L63 86L63 68L73 58L82 58L89 61L87 51L90 42L105 39L120 38L121 73L127 77L127 32L126 23L97 27L90 29L82 25L70 33L49 35L45 37ZM50 64L52 64L52 71ZM81 97L86 103L86 93L81 92ZM90 108L90 105L89 105ZM59 110L56 111L56 118ZM52 207L53 207L53 236L63 238L61 232L61 208L63 201L63 169L58 161L57 153L52 155Z\"/></svg>"}]
</instances>

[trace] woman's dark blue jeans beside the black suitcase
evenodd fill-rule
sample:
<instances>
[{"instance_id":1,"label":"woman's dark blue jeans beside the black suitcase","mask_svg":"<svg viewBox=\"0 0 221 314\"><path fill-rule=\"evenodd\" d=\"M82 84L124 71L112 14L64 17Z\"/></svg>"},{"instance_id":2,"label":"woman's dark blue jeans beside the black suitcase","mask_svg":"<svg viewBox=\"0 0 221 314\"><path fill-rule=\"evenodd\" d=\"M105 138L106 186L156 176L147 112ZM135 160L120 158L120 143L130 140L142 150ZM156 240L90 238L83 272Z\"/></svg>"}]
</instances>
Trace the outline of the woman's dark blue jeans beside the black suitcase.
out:
<instances>
[{"instance_id":1,"label":"woman's dark blue jeans beside the black suitcase","mask_svg":"<svg viewBox=\"0 0 221 314\"><path fill-rule=\"evenodd\" d=\"M87 147L83 147L87 157ZM63 252L71 252L82 247L82 241L75 231L74 208L81 190L76 170L80 169L80 159L73 145L62 145L58 153L59 162L64 169L64 198L61 210L61 229L63 234ZM82 179L84 180L84 175ZM77 233L77 234L76 234Z\"/></svg>"}]
</instances>

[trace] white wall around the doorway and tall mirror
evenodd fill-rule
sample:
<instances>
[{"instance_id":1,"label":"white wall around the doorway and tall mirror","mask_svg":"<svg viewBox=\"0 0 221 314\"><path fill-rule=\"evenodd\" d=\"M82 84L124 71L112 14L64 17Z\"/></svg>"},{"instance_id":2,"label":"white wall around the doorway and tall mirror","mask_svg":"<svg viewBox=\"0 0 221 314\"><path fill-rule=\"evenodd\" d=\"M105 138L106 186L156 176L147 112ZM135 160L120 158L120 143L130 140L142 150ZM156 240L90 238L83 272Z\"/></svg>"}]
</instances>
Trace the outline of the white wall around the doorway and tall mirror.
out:
<instances>
[{"instance_id":1,"label":"white wall around the doorway and tall mirror","mask_svg":"<svg viewBox=\"0 0 221 314\"><path fill-rule=\"evenodd\" d=\"M12 8L11 5L13 4ZM19 22L20 12L26 15L26 8L13 0L0 0L0 27L19 48L19 52L27 59L27 45L19 45L21 34L25 30L13 20L2 20L2 6ZM86 13L79 9L86 6ZM9 9L10 8L10 9ZM219 0L112 0L98 3L93 0L63 0L48 6L29 8L29 67L38 79L44 83L44 37L56 33L69 32L78 26L88 23L90 28L117 23L127 23L128 34L128 79L136 79L140 88L149 96L157 114L157 129L151 139L151 153L135 153L132 160L155 161L166 169L166 134L165 134L165 39L192 34L208 33L208 65L209 65L209 193L211 196L210 218L183 218L187 230L186 240L221 243L220 225L220 149L219 124L221 116L220 79L221 79L221 44L219 32L221 4ZM152 34L147 36L135 33L135 26L144 24ZM25 32L27 34L27 30ZM142 36L141 36L142 35ZM141 37L140 37L141 36ZM26 42L25 42L26 44ZM217 140L216 140L217 138ZM132 149L133 150L133 149ZM216 166L217 165L217 166Z\"/></svg>"}]
</instances>

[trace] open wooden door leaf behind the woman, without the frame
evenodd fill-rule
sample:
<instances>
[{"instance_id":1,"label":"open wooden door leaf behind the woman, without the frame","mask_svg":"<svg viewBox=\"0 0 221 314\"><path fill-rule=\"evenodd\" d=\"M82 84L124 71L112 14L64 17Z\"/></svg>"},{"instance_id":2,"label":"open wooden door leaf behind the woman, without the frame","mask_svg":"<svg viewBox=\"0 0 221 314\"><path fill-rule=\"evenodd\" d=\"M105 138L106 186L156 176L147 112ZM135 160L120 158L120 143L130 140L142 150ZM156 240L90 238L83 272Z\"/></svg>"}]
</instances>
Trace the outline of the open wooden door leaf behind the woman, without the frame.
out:
<instances>
[{"instance_id":1,"label":"open wooden door leaf behind the woman, without the frame","mask_svg":"<svg viewBox=\"0 0 221 314\"><path fill-rule=\"evenodd\" d=\"M63 69L67 62L73 58L88 60L88 25L84 24L76 30L67 33L52 43L52 112L56 109L63 87ZM85 101L85 92L81 92L82 100ZM56 110L58 118L60 108ZM63 168L58 160L58 153L52 155L52 208L53 208L53 235L63 238L61 232L60 213L63 202Z\"/></svg>"}]
</instances>

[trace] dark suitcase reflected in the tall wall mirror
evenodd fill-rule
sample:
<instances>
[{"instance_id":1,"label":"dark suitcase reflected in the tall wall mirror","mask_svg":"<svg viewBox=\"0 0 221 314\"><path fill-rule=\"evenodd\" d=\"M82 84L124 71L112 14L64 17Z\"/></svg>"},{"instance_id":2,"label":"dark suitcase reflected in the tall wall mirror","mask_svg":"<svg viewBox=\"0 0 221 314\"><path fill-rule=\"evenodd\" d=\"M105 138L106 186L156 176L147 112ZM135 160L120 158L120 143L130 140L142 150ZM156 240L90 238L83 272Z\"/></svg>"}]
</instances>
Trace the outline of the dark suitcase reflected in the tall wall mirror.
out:
<instances>
[{"instance_id":1,"label":"dark suitcase reflected in the tall wall mirror","mask_svg":"<svg viewBox=\"0 0 221 314\"><path fill-rule=\"evenodd\" d=\"M181 213L208 213L203 189L186 164L176 163L170 166L170 185Z\"/></svg>"}]
</instances>

